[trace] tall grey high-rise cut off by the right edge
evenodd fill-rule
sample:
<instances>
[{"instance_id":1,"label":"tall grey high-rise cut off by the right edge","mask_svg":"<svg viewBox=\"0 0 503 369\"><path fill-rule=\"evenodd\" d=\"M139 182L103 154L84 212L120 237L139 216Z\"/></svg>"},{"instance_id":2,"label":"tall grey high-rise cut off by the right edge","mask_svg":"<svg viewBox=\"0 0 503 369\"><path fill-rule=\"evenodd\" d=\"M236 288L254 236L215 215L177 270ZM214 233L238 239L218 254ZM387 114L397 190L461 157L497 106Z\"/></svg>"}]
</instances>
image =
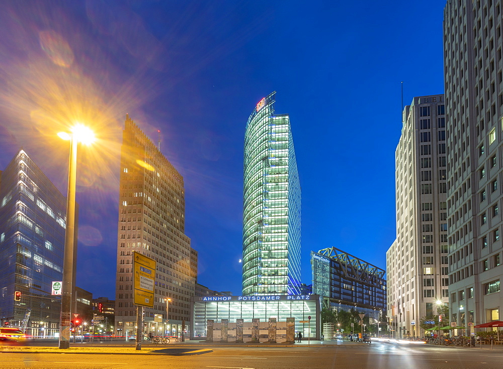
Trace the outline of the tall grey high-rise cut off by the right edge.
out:
<instances>
[{"instance_id":1,"label":"tall grey high-rise cut off by the right edge","mask_svg":"<svg viewBox=\"0 0 503 369\"><path fill-rule=\"evenodd\" d=\"M501 320L501 0L449 0L444 65L450 321Z\"/></svg>"}]
</instances>

